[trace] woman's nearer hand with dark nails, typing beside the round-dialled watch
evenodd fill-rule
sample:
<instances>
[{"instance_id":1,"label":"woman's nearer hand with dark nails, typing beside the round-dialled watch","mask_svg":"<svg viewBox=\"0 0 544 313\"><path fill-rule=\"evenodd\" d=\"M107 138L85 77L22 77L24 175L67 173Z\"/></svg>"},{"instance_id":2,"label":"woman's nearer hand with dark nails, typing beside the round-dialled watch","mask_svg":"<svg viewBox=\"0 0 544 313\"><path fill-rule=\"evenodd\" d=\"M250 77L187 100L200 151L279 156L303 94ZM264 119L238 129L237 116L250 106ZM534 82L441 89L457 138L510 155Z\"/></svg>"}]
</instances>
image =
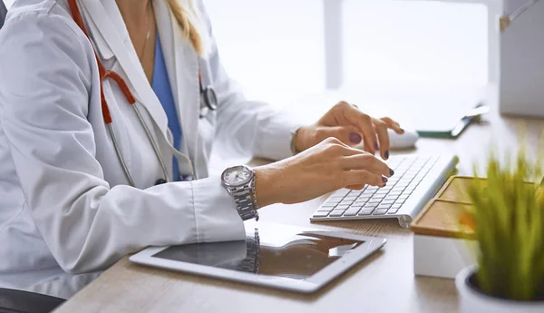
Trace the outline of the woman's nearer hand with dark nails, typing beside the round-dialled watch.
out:
<instances>
[{"instance_id":1,"label":"woman's nearer hand with dark nails, typing beside the round-dialled watch","mask_svg":"<svg viewBox=\"0 0 544 313\"><path fill-rule=\"evenodd\" d=\"M335 138L254 170L259 208L278 202L308 201L345 187L384 187L387 177L393 175L384 161Z\"/></svg>"}]
</instances>

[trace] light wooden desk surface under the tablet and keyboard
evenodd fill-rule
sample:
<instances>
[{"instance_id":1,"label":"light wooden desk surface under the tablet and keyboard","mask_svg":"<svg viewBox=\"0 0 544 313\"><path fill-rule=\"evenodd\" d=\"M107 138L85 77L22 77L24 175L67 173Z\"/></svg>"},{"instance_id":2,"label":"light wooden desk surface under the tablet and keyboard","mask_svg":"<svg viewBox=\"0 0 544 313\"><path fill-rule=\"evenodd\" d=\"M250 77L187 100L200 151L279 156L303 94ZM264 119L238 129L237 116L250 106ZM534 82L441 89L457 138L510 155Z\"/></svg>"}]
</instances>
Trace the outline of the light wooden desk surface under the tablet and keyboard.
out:
<instances>
[{"instance_id":1,"label":"light wooden desk surface under the tablet and keyboard","mask_svg":"<svg viewBox=\"0 0 544 313\"><path fill-rule=\"evenodd\" d=\"M460 171L471 173L491 139L500 149L518 146L520 120L501 118L491 102L488 123L472 125L458 140L422 140L418 153L453 152ZM536 152L544 122L525 121L529 152ZM258 288L219 279L151 269L121 259L68 300L64 312L457 312L453 280L414 277L413 235L396 220L310 223L325 198L296 205L274 205L261 219L305 227L342 230L388 240L384 249L314 295Z\"/></svg>"}]
</instances>

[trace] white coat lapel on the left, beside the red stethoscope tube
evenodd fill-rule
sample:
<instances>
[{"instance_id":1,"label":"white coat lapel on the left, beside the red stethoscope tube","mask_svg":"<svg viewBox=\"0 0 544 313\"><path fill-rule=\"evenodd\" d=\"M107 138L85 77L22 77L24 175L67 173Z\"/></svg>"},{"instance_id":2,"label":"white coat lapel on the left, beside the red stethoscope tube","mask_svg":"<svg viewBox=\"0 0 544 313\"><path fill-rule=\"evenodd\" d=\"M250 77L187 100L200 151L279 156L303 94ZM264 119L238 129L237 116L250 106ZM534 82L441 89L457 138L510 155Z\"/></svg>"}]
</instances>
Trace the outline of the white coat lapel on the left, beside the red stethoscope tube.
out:
<instances>
[{"instance_id":1,"label":"white coat lapel on the left, beside the red stethoscope tube","mask_svg":"<svg viewBox=\"0 0 544 313\"><path fill-rule=\"evenodd\" d=\"M81 9L82 14L92 20L93 27L102 36L100 40L95 40L99 53L103 56L111 51L115 55L127 75L127 83L134 97L150 113L163 137L168 138L168 118L141 68L115 0L80 0L79 5L84 8Z\"/></svg>"}]
</instances>

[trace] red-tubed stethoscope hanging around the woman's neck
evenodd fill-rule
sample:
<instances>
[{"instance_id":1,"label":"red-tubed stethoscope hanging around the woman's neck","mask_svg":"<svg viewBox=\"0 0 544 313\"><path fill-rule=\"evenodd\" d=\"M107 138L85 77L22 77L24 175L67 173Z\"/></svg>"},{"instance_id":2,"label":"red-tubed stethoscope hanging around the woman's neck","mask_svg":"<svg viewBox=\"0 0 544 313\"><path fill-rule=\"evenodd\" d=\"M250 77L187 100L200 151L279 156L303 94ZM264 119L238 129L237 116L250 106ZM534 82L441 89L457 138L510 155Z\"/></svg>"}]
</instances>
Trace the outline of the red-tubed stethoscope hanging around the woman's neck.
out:
<instances>
[{"instance_id":1,"label":"red-tubed stethoscope hanging around the woman's neck","mask_svg":"<svg viewBox=\"0 0 544 313\"><path fill-rule=\"evenodd\" d=\"M81 30L83 31L83 34L85 34L90 41L91 38L89 37L89 34L87 33L87 28L83 24L83 18L79 10L79 7L77 6L76 0L68 0L68 5L70 5L70 11L72 12L73 21L75 22L75 24L77 24L81 28ZM110 132L110 136L112 137L112 142L113 142L113 148L115 150L115 153L117 154L119 161L121 162L122 171L124 171L125 176L127 177L127 180L129 181L132 187L136 186L136 184L134 183L134 180L132 179L131 172L129 171L127 163L122 156L121 148L120 148L119 142L117 141L117 136L115 135L115 132L113 131L112 115L110 113L110 109L108 107L108 103L106 102L106 97L104 96L104 91L103 91L103 81L106 78L111 78L115 83L117 83L117 85L121 89L121 92L124 94L125 98L127 99L127 102L130 103L132 108L134 109L134 112L136 113L136 116L138 117L138 120L140 121L146 136L151 142L151 146L153 147L153 152L155 152L155 156L159 160L160 169L162 170L162 174L163 174L163 178L157 180L155 184L159 185L159 184L170 181L168 171L166 169L166 165L164 164L164 161L162 161L161 153L157 145L157 142L153 140L151 131L148 128L146 122L143 120L140 109L136 105L137 104L136 99L132 95L131 90L129 89L127 83L125 83L125 81L122 79L122 77L118 73L106 70L106 68L102 64L102 61L98 57L98 54L96 54L96 51L94 52L94 55L96 57L96 62L98 64L98 73L100 75L100 97L101 97L101 106L102 106L102 118L104 120L104 123L106 124L106 127L108 128L108 132ZM213 89L211 85L204 86L204 84L202 83L202 77L200 73L199 73L199 86L200 86L199 87L200 89L200 118L203 118L206 115L208 115L209 111L216 111L218 109L218 97L217 97L217 94L215 93L215 90Z\"/></svg>"}]
</instances>

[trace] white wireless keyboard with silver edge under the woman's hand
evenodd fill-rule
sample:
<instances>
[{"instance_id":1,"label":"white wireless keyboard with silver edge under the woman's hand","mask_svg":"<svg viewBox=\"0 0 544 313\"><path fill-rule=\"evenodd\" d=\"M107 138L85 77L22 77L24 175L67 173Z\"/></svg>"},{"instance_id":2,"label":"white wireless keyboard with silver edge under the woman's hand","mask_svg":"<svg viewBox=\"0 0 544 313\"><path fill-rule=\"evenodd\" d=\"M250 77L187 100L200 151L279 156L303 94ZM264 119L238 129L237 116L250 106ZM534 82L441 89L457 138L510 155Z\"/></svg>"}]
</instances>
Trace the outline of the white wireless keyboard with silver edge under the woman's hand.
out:
<instances>
[{"instance_id":1,"label":"white wireless keyboard with silver edge under the woman's hand","mask_svg":"<svg viewBox=\"0 0 544 313\"><path fill-rule=\"evenodd\" d=\"M452 155L393 156L387 164L394 174L385 187L335 191L310 220L397 219L403 228L409 228L413 218L455 170L457 161Z\"/></svg>"}]
</instances>

